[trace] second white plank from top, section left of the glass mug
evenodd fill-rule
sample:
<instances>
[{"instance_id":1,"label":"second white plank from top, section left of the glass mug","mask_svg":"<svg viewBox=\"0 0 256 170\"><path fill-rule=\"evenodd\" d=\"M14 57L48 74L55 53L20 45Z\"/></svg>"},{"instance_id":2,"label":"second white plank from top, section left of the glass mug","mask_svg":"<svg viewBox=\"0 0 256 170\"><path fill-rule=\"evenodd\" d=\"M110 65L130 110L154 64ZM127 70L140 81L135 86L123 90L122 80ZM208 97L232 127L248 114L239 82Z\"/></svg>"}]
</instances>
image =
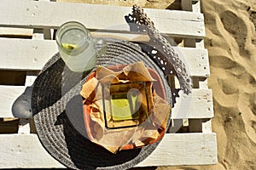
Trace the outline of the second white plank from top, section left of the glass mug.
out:
<instances>
[{"instance_id":1,"label":"second white plank from top, section left of the glass mug","mask_svg":"<svg viewBox=\"0 0 256 170\"><path fill-rule=\"evenodd\" d=\"M16 70L41 70L58 52L55 41L0 38L0 68Z\"/></svg>"}]
</instances>

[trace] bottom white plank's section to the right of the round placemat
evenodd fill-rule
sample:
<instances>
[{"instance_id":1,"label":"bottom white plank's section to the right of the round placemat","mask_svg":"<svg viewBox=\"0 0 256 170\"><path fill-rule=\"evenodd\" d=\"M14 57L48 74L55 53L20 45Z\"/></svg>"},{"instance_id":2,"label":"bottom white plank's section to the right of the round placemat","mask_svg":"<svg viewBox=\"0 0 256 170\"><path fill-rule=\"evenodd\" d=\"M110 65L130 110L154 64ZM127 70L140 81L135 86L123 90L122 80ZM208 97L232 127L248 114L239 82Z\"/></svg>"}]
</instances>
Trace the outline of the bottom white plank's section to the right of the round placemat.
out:
<instances>
[{"instance_id":1,"label":"bottom white plank's section to the right of the round placemat","mask_svg":"<svg viewBox=\"0 0 256 170\"><path fill-rule=\"evenodd\" d=\"M137 167L216 164L215 133L166 133L154 152Z\"/></svg>"}]
</instances>

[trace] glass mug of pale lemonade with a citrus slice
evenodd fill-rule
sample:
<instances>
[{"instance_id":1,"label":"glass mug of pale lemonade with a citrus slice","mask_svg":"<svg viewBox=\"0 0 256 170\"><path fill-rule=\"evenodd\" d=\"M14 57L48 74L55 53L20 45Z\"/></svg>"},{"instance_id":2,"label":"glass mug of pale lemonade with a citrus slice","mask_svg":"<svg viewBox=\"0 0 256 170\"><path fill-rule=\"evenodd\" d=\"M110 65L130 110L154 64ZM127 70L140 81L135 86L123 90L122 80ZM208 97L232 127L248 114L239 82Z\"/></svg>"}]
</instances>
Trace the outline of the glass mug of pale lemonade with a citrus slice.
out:
<instances>
[{"instance_id":1,"label":"glass mug of pale lemonade with a citrus slice","mask_svg":"<svg viewBox=\"0 0 256 170\"><path fill-rule=\"evenodd\" d=\"M56 42L61 59L71 71L90 71L95 67L99 54L95 48L96 39L79 22L63 24L56 33Z\"/></svg>"}]
</instances>

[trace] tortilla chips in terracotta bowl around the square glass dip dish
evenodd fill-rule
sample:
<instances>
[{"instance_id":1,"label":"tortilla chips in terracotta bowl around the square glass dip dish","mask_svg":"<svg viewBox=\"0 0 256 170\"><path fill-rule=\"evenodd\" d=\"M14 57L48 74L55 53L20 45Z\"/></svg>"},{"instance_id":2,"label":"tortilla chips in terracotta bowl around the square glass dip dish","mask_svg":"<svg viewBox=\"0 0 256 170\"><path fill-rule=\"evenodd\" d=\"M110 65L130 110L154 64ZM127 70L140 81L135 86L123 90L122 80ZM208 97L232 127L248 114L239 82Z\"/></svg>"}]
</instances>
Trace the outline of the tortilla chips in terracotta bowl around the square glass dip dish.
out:
<instances>
[{"instance_id":1,"label":"tortilla chips in terracotta bowl around the square glass dip dish","mask_svg":"<svg viewBox=\"0 0 256 170\"><path fill-rule=\"evenodd\" d=\"M92 142L116 153L119 150L153 144L163 137L171 106L158 95L165 92L163 88L159 88L162 83L160 77L154 79L152 73L156 74L153 70L147 69L143 62L137 62L131 65L115 65L111 68L98 67L96 72L90 75L80 94L84 98L86 132ZM104 104L111 102L108 87L111 87L111 84L131 82L145 82L145 89L138 88L138 91L142 94L146 92L147 99L142 98L141 102L147 107L143 108L143 112L136 120L115 121L111 110L104 107ZM165 98L164 95L162 96ZM119 128L108 128L107 122ZM129 127L129 125L137 126Z\"/></svg>"}]
</instances>

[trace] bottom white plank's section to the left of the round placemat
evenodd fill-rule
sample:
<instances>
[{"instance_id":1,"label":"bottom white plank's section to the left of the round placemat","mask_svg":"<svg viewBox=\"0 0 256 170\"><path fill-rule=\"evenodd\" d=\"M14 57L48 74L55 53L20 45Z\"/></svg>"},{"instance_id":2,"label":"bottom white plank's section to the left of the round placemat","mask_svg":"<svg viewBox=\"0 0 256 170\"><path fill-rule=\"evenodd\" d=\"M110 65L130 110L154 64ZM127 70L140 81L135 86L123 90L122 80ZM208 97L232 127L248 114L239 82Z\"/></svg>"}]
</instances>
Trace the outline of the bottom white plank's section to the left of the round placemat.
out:
<instances>
[{"instance_id":1,"label":"bottom white plank's section to the left of the round placemat","mask_svg":"<svg viewBox=\"0 0 256 170\"><path fill-rule=\"evenodd\" d=\"M49 156L37 134L0 134L0 168L64 167Z\"/></svg>"}]
</instances>

